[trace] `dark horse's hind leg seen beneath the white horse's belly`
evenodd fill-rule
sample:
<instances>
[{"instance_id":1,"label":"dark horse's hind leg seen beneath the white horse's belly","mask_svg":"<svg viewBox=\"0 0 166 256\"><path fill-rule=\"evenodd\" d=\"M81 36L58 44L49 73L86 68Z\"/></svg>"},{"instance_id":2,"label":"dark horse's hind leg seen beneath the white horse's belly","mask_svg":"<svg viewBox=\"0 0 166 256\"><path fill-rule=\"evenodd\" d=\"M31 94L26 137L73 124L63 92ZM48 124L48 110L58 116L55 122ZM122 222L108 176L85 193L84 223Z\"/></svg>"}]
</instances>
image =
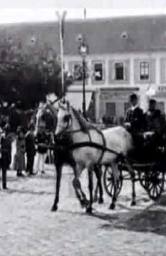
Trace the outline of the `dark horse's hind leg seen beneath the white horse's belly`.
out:
<instances>
[{"instance_id":1,"label":"dark horse's hind leg seen beneath the white horse's belly","mask_svg":"<svg viewBox=\"0 0 166 256\"><path fill-rule=\"evenodd\" d=\"M99 203L103 203L103 187L102 187L102 170L99 166L94 165L94 172L97 178L97 186L95 190L94 202L98 200L98 190L99 190Z\"/></svg>"}]
</instances>

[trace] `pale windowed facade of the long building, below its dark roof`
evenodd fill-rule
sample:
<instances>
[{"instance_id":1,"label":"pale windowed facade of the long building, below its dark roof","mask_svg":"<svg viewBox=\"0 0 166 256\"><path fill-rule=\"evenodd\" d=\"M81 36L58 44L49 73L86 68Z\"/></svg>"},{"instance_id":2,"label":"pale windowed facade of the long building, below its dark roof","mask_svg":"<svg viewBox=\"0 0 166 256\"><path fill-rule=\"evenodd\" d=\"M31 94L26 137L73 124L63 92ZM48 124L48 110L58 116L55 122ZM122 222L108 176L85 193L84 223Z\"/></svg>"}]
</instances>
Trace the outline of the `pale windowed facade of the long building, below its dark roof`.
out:
<instances>
[{"instance_id":1,"label":"pale windowed facade of the long building, below its dark roof","mask_svg":"<svg viewBox=\"0 0 166 256\"><path fill-rule=\"evenodd\" d=\"M82 80L75 75L79 56L65 57L65 67L74 77L70 92L81 94ZM87 57L87 68L91 75L86 81L87 92L96 94L96 119L103 115L124 116L129 107L129 95L133 92L140 97L140 106L147 109L148 91L154 89L152 95L157 107L165 112L166 107L166 53L121 53L107 55L90 55ZM75 95L76 96L76 95ZM89 96L87 104L89 105ZM78 97L75 97L75 101Z\"/></svg>"}]
</instances>

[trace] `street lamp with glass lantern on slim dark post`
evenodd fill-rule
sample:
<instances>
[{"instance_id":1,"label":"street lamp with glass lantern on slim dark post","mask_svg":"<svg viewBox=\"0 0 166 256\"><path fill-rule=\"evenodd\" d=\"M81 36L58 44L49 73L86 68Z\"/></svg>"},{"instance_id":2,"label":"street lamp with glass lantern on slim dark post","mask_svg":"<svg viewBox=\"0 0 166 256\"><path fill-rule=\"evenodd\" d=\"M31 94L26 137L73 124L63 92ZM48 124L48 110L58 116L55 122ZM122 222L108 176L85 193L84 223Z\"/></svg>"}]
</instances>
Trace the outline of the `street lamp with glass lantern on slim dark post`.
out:
<instances>
[{"instance_id":1,"label":"street lamp with glass lantern on slim dark post","mask_svg":"<svg viewBox=\"0 0 166 256\"><path fill-rule=\"evenodd\" d=\"M86 39L81 39L79 45L79 54L82 57L82 114L87 119L86 113L86 57L88 54L88 45Z\"/></svg>"}]
</instances>

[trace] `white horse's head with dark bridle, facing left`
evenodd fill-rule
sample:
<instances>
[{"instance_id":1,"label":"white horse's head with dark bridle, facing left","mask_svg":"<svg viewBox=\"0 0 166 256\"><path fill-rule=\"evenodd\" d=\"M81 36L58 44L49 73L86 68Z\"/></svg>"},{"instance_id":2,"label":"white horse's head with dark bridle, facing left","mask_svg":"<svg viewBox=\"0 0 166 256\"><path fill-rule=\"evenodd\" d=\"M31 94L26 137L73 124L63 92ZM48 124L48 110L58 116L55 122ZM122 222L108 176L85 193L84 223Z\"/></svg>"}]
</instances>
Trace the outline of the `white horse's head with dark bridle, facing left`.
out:
<instances>
[{"instance_id":1,"label":"white horse's head with dark bridle, facing left","mask_svg":"<svg viewBox=\"0 0 166 256\"><path fill-rule=\"evenodd\" d=\"M59 102L59 110L57 114L57 126L55 135L68 131L71 124L71 108L68 101L61 100Z\"/></svg>"}]
</instances>

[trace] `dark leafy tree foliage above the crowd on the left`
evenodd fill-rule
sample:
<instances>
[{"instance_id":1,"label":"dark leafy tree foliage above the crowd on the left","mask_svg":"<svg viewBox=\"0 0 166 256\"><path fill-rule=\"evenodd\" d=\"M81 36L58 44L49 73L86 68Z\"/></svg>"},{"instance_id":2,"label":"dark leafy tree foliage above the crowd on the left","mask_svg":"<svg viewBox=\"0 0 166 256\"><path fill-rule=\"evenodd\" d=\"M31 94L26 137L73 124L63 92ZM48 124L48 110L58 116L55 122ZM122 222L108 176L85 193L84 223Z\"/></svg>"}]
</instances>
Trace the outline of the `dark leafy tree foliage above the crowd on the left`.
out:
<instances>
[{"instance_id":1,"label":"dark leafy tree foliage above the crowd on the left","mask_svg":"<svg viewBox=\"0 0 166 256\"><path fill-rule=\"evenodd\" d=\"M65 90L71 77L64 74ZM61 97L61 68L55 51L36 42L23 48L20 41L0 41L0 100L34 107L48 93Z\"/></svg>"}]
</instances>

